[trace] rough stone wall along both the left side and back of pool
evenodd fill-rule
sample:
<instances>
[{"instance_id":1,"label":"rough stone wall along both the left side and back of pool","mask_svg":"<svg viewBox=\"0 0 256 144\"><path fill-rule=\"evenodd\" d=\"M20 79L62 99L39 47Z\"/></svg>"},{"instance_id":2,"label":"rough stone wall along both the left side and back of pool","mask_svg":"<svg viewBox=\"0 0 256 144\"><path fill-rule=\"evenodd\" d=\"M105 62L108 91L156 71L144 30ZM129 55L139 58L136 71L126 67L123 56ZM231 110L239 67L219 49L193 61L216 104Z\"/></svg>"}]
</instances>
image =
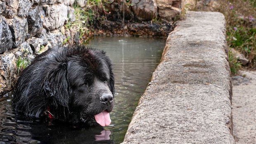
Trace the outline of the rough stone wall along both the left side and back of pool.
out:
<instances>
[{"instance_id":1,"label":"rough stone wall along both the left side and back of pool","mask_svg":"<svg viewBox=\"0 0 256 144\"><path fill-rule=\"evenodd\" d=\"M168 35L172 19L179 14L182 0L106 0L109 14L95 31L104 34ZM17 59L31 61L49 48L59 48L67 40L79 43L80 33L65 24L75 21L75 0L0 0L0 95L12 90L17 80ZM76 0L86 8L87 0ZM123 2L126 2L125 5ZM130 2L130 4L128 4ZM126 22L123 26L123 11ZM163 23L152 24L154 19ZM146 21L146 22L145 22ZM137 22L137 24L134 24ZM121 31L120 31L121 30ZM102 32L103 31L103 32ZM106 34L106 33L105 33Z\"/></svg>"}]
</instances>

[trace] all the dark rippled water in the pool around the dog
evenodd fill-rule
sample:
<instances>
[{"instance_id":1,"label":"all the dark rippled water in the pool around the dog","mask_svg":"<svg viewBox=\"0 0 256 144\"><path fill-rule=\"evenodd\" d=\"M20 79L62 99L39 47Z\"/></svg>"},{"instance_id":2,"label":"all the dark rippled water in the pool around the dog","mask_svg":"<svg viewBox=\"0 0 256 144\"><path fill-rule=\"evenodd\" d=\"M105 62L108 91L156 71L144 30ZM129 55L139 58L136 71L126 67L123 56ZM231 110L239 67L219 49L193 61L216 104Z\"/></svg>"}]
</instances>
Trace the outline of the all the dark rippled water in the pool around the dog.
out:
<instances>
[{"instance_id":1,"label":"all the dark rippled water in the pool around the dog","mask_svg":"<svg viewBox=\"0 0 256 144\"><path fill-rule=\"evenodd\" d=\"M87 127L42 119L28 119L12 112L12 95L0 99L0 144L119 144L123 142L137 103L159 64L165 40L138 37L95 37L92 47L105 50L114 63L115 106L111 125Z\"/></svg>"}]
</instances>

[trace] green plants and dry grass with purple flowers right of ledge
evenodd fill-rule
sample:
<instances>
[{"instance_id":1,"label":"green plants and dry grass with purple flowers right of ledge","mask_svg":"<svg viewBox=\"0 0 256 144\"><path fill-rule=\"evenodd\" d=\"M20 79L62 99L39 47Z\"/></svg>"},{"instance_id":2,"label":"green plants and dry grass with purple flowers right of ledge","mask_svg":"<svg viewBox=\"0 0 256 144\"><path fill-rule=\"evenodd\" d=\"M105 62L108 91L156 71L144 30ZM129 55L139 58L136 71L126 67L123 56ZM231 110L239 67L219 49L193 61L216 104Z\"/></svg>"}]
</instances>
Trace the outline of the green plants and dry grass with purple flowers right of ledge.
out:
<instances>
[{"instance_id":1,"label":"green plants and dry grass with purple flowers right of ledge","mask_svg":"<svg viewBox=\"0 0 256 144\"><path fill-rule=\"evenodd\" d=\"M216 0L216 2L218 6L213 9L205 7L199 10L224 14L228 47L234 48L249 59L248 68L256 68L256 0ZM229 59L231 72L236 74L241 64L231 51Z\"/></svg>"}]
</instances>

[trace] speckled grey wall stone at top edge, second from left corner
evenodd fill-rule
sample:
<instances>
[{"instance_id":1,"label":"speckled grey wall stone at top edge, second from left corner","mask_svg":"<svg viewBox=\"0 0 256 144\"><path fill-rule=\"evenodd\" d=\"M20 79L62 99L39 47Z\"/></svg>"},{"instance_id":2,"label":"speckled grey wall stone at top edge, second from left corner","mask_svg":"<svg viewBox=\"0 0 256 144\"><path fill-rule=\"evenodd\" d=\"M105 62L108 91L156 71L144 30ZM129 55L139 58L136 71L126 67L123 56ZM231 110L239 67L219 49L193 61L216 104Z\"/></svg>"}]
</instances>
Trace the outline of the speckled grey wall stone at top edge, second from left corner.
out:
<instances>
[{"instance_id":1,"label":"speckled grey wall stone at top edge, second from left corner","mask_svg":"<svg viewBox=\"0 0 256 144\"><path fill-rule=\"evenodd\" d=\"M19 8L18 8L18 17L26 17L28 15L28 11L32 7L32 2L30 0L19 0Z\"/></svg>"}]
</instances>

